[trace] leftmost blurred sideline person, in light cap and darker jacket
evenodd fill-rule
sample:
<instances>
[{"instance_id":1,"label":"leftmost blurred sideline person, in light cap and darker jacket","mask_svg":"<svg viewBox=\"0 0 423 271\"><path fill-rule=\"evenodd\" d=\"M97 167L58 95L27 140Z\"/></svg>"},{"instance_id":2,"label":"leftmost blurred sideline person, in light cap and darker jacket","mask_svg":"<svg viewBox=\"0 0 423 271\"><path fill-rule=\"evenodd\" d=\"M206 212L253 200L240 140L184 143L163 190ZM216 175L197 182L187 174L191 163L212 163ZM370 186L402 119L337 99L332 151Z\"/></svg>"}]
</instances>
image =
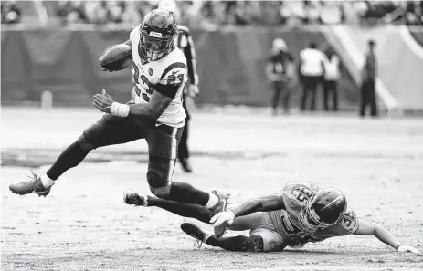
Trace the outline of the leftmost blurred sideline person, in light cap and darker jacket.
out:
<instances>
[{"instance_id":1,"label":"leftmost blurred sideline person, in light cap and darker jacket","mask_svg":"<svg viewBox=\"0 0 423 271\"><path fill-rule=\"evenodd\" d=\"M286 43L281 38L273 40L271 48L271 55L268 60L266 68L266 75L273 87L272 96L272 113L275 116L278 113L278 106L280 102L280 96L282 98L283 109L285 113L289 112L290 109L290 88L289 84L292 80L291 65L293 63L293 57L288 51Z\"/></svg>"}]
</instances>

